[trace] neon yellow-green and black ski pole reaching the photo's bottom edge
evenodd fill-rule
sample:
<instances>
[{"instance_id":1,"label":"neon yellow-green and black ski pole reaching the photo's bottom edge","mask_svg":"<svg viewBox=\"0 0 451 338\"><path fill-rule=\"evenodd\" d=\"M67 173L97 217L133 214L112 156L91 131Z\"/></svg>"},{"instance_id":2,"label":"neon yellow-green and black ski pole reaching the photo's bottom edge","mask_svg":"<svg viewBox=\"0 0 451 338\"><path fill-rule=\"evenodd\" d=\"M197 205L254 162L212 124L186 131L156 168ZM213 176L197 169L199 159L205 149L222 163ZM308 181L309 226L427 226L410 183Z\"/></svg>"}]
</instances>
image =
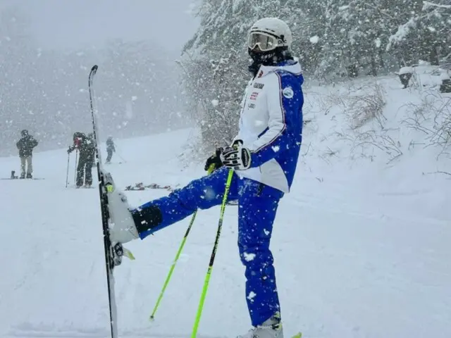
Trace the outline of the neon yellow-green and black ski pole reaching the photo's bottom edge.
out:
<instances>
[{"instance_id":1,"label":"neon yellow-green and black ski pole reaching the photo's bottom edge","mask_svg":"<svg viewBox=\"0 0 451 338\"><path fill-rule=\"evenodd\" d=\"M233 177L233 169L230 169L229 172L228 172L228 177L227 177L227 182L226 182L226 190L224 191L223 203L221 204L221 213L219 215L219 222L218 222L218 230L216 232L216 239L214 241L213 251L211 251L209 268L206 271L206 276L205 276L205 281L204 281L204 288L202 289L202 294L200 296L199 308L197 308L196 320L194 321L194 327L192 328L191 338L195 338L196 337L197 328L199 327L199 321L200 321L200 317L202 315L202 308L204 308L204 301L205 301L205 296L206 296L206 290L209 287L211 270L213 269L214 258L216 256L216 250L218 249L219 237L221 236L221 229L223 227L224 211L226 210L227 196L228 196L228 191L230 189L230 184L232 183L232 177Z\"/></svg>"}]
</instances>

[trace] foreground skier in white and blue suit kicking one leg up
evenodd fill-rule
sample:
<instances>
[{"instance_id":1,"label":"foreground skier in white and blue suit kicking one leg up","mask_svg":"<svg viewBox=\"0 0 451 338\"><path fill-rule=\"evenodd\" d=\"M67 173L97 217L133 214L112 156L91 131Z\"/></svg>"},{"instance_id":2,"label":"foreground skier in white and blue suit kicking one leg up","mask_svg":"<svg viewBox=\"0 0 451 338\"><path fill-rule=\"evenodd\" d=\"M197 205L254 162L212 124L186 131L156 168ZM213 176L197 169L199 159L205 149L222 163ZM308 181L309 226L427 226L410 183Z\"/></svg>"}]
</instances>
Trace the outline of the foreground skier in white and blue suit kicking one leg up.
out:
<instances>
[{"instance_id":1,"label":"foreground skier in white and blue suit kicking one leg up","mask_svg":"<svg viewBox=\"0 0 451 338\"><path fill-rule=\"evenodd\" d=\"M278 18L258 20L249 32L253 78L242 100L239 132L217 149L205 169L216 170L168 196L130 208L122 192L109 196L111 242L144 239L198 208L218 206L228 170L229 199L237 199L238 248L245 265L246 301L253 328L242 338L283 338L273 256L269 249L279 200L290 192L302 142L301 66L290 54L292 33Z\"/></svg>"}]
</instances>

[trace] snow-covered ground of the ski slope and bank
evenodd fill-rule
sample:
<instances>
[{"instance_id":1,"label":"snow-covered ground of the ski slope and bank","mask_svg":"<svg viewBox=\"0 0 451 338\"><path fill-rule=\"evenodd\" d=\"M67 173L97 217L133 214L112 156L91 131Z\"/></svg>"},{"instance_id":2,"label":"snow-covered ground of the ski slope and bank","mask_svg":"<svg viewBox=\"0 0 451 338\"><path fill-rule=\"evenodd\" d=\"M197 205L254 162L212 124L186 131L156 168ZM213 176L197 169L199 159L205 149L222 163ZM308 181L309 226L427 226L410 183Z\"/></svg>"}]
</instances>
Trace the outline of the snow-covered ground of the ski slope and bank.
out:
<instances>
[{"instance_id":1,"label":"snow-covered ground of the ski slope and bank","mask_svg":"<svg viewBox=\"0 0 451 338\"><path fill-rule=\"evenodd\" d=\"M381 85L387 123L400 125L400 107L420 96L395 80ZM401 156L374 146L362 150L373 161L356 156L352 142L337 137L346 129L342 106L319 99L340 91L347 89L306 90L312 121L304 156L276 218L285 337L298 330L315 338L451 337L451 176L436 173L450 172L449 157L438 147L409 146L425 136L405 127L390 134ZM126 162L115 157L108 167L116 184L176 186L204 175L203 163L180 163L191 132L118 141ZM37 153L35 177L45 180L0 180L0 337L109 337L98 191L65 187L67 158L66 149ZM18 165L18 158L0 158L0 173L8 177ZM133 205L166 193L126 192ZM218 214L197 215L154 323L149 315L189 218L129 245L136 261L115 272L121 337L190 336ZM249 329L236 242L237 208L228 206L200 337Z\"/></svg>"}]
</instances>

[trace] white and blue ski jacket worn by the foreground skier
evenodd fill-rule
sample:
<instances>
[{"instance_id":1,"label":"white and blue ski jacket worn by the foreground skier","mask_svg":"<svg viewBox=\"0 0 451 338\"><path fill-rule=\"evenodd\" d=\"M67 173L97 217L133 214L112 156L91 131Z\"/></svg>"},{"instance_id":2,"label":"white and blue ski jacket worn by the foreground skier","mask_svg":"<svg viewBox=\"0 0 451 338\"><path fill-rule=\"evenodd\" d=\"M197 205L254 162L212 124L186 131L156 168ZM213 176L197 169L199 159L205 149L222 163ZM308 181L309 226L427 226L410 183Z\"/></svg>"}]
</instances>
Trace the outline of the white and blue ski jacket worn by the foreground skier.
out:
<instances>
[{"instance_id":1,"label":"white and blue ski jacket worn by the foreground skier","mask_svg":"<svg viewBox=\"0 0 451 338\"><path fill-rule=\"evenodd\" d=\"M290 192L302 142L303 82L297 61L261 66L249 82L235 139L251 150L251 168L238 175Z\"/></svg>"}]
</instances>

